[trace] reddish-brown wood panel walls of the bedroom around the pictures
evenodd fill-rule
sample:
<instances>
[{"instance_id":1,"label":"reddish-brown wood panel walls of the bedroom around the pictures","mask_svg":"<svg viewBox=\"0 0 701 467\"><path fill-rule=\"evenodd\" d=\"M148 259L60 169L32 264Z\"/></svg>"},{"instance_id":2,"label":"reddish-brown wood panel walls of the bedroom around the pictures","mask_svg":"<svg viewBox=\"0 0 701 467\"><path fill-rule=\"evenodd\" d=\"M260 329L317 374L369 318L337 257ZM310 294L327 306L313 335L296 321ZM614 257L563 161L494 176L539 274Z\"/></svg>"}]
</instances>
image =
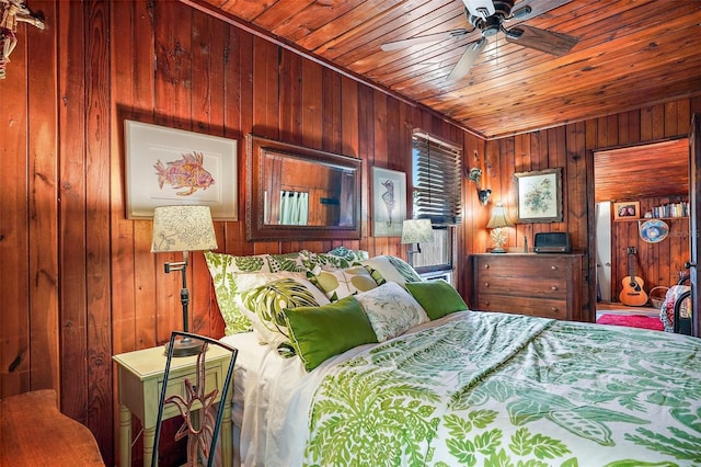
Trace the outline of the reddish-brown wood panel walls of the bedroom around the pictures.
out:
<instances>
[{"instance_id":1,"label":"reddish-brown wood panel walls of the bedroom around the pictures","mask_svg":"<svg viewBox=\"0 0 701 467\"><path fill-rule=\"evenodd\" d=\"M567 230L574 247L588 251L591 150L683 135L691 112L701 111L699 100L682 100L484 141L177 2L33 0L31 7L44 12L47 29L20 25L0 81L0 396L56 388L61 410L91 429L107 465L117 462L111 356L160 344L181 326L177 277L162 272L176 258L151 254L151 223L125 216L125 118L240 141L252 132L363 160L360 240L246 242L241 220L216 223L220 251L345 244L405 257L398 238L371 236L369 168L409 174L415 127L462 144L464 166L485 167L493 200L507 206L515 171L563 167L564 221L520 225L509 246L524 237L532 242L537 231ZM241 161L240 149L240 187ZM464 259L489 246L490 209L473 184L466 182L463 193L456 273L467 295ZM242 191L239 206L244 219ZM191 329L221 335L204 260L193 257ZM134 451L138 456L139 444Z\"/></svg>"}]
</instances>

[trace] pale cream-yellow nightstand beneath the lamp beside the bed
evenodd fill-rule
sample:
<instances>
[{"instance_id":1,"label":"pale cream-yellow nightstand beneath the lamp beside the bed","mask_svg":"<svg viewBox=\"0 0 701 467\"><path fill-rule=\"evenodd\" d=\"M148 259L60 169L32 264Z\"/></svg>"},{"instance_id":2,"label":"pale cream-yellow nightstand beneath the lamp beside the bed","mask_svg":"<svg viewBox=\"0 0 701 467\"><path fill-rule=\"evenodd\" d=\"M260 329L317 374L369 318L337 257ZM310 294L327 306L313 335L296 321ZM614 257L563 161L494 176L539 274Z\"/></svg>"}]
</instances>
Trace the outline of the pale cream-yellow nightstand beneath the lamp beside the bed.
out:
<instances>
[{"instance_id":1,"label":"pale cream-yellow nightstand beneath the lamp beside the bed","mask_svg":"<svg viewBox=\"0 0 701 467\"><path fill-rule=\"evenodd\" d=\"M153 436L158 418L158 401L163 387L166 355L162 346L123 353L112 357L117 364L117 381L119 397L119 466L131 465L131 415L136 415L143 426L143 465L151 465ZM209 346L207 350L206 375L207 390L223 387L231 353L225 349ZM195 363L197 356L174 357L165 397L173 394L185 395L185 378L195 380ZM223 465L231 465L231 395L233 385L225 401L221 421L221 453ZM221 396L217 397L219 401ZM163 420L180 417L177 408L169 403L163 410Z\"/></svg>"}]
</instances>

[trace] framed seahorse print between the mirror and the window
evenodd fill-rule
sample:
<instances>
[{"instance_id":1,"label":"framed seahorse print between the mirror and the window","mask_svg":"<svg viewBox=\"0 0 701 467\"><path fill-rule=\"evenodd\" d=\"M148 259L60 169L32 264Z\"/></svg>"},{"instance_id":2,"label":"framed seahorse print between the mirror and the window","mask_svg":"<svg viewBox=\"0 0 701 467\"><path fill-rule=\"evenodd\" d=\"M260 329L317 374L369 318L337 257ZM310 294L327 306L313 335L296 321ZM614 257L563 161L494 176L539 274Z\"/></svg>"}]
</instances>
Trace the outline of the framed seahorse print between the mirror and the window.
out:
<instances>
[{"instance_id":1,"label":"framed seahorse print between the mirror and the window","mask_svg":"<svg viewBox=\"0 0 701 467\"><path fill-rule=\"evenodd\" d=\"M406 174L372 168L372 235L401 237L406 218Z\"/></svg>"}]
</instances>

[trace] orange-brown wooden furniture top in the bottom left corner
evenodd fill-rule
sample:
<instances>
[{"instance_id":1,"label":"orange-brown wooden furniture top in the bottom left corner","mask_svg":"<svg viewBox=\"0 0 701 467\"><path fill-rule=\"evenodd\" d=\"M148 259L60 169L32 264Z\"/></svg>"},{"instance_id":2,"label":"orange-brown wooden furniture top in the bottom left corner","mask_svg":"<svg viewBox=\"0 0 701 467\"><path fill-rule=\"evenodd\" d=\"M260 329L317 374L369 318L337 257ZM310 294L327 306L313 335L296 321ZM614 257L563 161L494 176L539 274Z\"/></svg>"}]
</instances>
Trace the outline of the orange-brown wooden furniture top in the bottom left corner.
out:
<instances>
[{"instance_id":1,"label":"orange-brown wooden furniture top in the bottom left corner","mask_svg":"<svg viewBox=\"0 0 701 467\"><path fill-rule=\"evenodd\" d=\"M56 391L0 400L0 466L104 466L88 426L58 410Z\"/></svg>"}]
</instances>

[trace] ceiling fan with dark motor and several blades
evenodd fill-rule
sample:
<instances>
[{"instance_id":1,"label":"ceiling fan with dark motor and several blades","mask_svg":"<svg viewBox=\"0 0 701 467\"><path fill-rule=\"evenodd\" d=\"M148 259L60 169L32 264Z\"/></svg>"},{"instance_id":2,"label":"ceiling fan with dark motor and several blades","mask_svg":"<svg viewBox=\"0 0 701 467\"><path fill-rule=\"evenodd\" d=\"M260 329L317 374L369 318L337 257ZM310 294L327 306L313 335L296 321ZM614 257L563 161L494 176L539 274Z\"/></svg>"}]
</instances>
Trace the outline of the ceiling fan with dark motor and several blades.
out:
<instances>
[{"instance_id":1,"label":"ceiling fan with dark motor and several blades","mask_svg":"<svg viewBox=\"0 0 701 467\"><path fill-rule=\"evenodd\" d=\"M541 30L539 27L518 24L510 29L504 26L505 22L526 21L528 19L547 13L572 0L524 0L516 8L516 0L462 0L466 4L466 16L472 29L458 29L443 33L427 34L402 41L388 42L380 46L384 52L398 50L417 44L439 42L451 37L474 38L468 44L464 53L448 75L448 80L464 77L470 68L486 47L490 37L504 33L509 43L535 48L547 54L562 56L567 54L577 44L578 38L567 34Z\"/></svg>"}]
</instances>

